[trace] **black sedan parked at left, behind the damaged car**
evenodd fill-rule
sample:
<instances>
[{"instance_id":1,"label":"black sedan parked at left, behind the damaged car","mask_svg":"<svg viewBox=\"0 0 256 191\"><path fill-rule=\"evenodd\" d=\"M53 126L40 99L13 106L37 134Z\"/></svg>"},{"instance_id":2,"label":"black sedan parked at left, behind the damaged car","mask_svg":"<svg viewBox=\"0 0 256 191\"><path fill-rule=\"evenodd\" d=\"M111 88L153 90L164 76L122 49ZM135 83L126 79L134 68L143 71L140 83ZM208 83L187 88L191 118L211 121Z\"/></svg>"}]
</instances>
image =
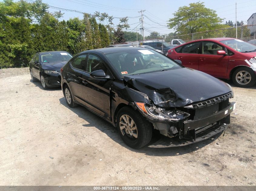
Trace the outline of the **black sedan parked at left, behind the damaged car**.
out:
<instances>
[{"instance_id":1,"label":"black sedan parked at left, behind the damaged car","mask_svg":"<svg viewBox=\"0 0 256 191\"><path fill-rule=\"evenodd\" d=\"M58 87L61 85L60 69L64 66L72 55L65 51L49 51L36 53L29 62L31 79L35 82L41 81L42 87Z\"/></svg>"}]
</instances>

